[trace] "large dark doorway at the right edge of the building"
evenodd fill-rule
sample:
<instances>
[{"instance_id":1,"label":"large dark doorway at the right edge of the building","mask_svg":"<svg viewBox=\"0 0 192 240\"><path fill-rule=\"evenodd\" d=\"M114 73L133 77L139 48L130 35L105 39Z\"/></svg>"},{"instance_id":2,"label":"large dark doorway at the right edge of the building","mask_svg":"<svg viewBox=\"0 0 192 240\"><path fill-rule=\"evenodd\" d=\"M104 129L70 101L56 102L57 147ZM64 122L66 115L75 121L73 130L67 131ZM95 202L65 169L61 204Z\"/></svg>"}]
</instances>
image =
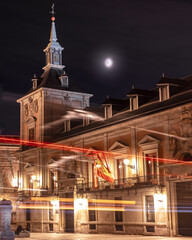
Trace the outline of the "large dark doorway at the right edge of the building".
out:
<instances>
[{"instance_id":1,"label":"large dark doorway at the right edge of the building","mask_svg":"<svg viewBox=\"0 0 192 240\"><path fill-rule=\"evenodd\" d=\"M192 236L192 182L176 184L178 234Z\"/></svg>"}]
</instances>

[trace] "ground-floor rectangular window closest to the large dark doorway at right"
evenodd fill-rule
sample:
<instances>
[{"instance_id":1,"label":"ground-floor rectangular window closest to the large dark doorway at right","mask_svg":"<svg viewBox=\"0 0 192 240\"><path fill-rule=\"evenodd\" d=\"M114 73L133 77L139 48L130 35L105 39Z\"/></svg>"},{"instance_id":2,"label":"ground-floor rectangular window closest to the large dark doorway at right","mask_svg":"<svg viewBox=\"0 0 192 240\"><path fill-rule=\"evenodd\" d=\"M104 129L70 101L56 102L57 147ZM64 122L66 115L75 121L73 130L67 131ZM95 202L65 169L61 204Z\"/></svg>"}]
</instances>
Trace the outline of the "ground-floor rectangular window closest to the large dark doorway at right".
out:
<instances>
[{"instance_id":1,"label":"ground-floor rectangular window closest to the large dark doorway at right","mask_svg":"<svg viewBox=\"0 0 192 240\"><path fill-rule=\"evenodd\" d=\"M146 221L155 222L154 198L152 195L145 196Z\"/></svg>"}]
</instances>

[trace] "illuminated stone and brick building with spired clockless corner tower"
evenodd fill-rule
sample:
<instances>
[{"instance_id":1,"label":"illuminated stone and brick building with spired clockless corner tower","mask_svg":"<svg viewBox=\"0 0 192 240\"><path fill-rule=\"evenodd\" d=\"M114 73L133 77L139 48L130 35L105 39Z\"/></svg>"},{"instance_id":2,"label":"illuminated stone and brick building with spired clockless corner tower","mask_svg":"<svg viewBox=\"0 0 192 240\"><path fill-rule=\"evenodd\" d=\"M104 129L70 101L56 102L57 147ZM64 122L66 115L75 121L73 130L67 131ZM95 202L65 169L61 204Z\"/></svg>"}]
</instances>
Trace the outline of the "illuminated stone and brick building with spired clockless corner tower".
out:
<instances>
[{"instance_id":1,"label":"illuminated stone and brick building with spired clockless corner tower","mask_svg":"<svg viewBox=\"0 0 192 240\"><path fill-rule=\"evenodd\" d=\"M192 77L163 76L156 89L94 108L63 71L62 50L52 20L44 73L18 100L20 137L71 149L21 146L17 223L34 232L190 235L182 224L191 213L178 210L192 189ZM105 151L113 184L94 188L95 151Z\"/></svg>"}]
</instances>

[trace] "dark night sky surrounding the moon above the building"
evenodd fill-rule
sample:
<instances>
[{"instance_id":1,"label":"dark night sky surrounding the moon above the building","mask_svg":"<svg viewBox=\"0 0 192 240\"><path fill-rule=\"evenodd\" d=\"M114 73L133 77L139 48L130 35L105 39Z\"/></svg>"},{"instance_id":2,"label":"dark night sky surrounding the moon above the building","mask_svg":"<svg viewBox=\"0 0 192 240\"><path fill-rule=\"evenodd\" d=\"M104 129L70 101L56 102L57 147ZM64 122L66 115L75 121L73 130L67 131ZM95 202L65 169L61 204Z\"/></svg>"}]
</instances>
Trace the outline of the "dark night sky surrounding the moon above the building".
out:
<instances>
[{"instance_id":1,"label":"dark night sky surrounding the moon above the building","mask_svg":"<svg viewBox=\"0 0 192 240\"><path fill-rule=\"evenodd\" d=\"M19 131L15 100L45 66L43 49L51 30L50 0L1 3L0 133ZM131 86L151 89L162 73L192 74L192 1L55 0L63 64L92 102L125 98ZM111 57L113 68L104 60ZM4 97L2 97L4 96ZM3 113L3 114L2 114Z\"/></svg>"}]
</instances>

